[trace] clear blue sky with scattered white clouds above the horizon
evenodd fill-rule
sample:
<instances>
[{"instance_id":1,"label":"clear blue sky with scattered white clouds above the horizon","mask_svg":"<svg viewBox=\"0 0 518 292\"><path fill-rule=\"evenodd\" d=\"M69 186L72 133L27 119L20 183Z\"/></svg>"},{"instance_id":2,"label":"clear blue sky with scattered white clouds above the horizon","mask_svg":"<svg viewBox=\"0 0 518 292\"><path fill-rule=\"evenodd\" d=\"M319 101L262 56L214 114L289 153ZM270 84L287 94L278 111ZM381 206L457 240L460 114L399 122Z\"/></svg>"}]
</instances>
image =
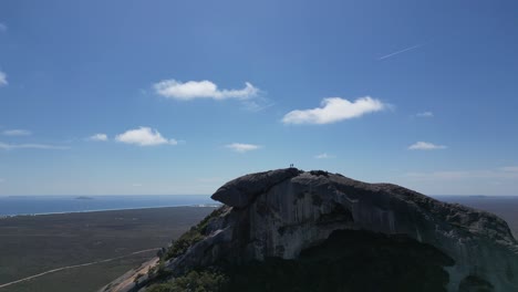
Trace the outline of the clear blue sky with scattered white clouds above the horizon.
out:
<instances>
[{"instance_id":1,"label":"clear blue sky with scattered white clouds above the horizon","mask_svg":"<svg viewBox=\"0 0 518 292\"><path fill-rule=\"evenodd\" d=\"M0 195L294 164L518 195L516 1L0 2Z\"/></svg>"}]
</instances>

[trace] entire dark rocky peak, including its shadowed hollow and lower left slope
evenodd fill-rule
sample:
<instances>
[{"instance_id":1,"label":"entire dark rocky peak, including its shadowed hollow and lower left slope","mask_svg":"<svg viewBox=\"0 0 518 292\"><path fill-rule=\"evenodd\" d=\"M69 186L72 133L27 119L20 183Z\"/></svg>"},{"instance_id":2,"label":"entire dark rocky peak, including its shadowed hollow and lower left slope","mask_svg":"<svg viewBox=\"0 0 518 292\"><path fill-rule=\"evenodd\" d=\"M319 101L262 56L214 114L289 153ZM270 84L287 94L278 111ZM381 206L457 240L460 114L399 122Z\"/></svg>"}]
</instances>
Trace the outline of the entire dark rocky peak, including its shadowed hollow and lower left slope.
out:
<instances>
[{"instance_id":1,"label":"entire dark rocky peak, including its shadowed hollow and lower left slope","mask_svg":"<svg viewBox=\"0 0 518 292\"><path fill-rule=\"evenodd\" d=\"M488 212L297 168L213 199L225 206L116 291L518 291L518 243Z\"/></svg>"}]
</instances>

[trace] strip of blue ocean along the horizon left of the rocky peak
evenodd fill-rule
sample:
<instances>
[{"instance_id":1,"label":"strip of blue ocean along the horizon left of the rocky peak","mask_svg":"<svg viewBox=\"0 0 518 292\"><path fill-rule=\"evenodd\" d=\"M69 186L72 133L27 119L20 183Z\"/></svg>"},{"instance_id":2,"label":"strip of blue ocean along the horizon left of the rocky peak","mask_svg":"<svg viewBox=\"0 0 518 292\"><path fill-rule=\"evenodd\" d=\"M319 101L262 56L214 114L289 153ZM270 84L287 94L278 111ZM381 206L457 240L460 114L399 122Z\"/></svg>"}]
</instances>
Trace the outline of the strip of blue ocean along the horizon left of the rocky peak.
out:
<instances>
[{"instance_id":1,"label":"strip of blue ocean along the horizon left of the rocky peak","mask_svg":"<svg viewBox=\"0 0 518 292\"><path fill-rule=\"evenodd\" d=\"M0 217L216 204L209 195L8 196L0 197Z\"/></svg>"}]
</instances>

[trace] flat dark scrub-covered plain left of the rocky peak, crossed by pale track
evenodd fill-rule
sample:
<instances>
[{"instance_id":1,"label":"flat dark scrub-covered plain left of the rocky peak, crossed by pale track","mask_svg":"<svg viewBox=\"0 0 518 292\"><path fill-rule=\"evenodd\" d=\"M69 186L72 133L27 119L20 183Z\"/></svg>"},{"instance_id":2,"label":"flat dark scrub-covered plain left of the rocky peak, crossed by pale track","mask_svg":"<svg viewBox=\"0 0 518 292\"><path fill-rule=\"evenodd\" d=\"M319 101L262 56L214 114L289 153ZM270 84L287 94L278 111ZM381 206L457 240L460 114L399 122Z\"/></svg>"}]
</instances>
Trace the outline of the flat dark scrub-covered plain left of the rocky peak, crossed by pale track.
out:
<instances>
[{"instance_id":1,"label":"flat dark scrub-covered plain left of the rocky peak, crossed by pale track","mask_svg":"<svg viewBox=\"0 0 518 292\"><path fill-rule=\"evenodd\" d=\"M2 218L0 286L53 269L93 264L48 273L0 292L95 291L155 257L158 248L213 210L170 207ZM110 261L94 263L104 260Z\"/></svg>"}]
</instances>

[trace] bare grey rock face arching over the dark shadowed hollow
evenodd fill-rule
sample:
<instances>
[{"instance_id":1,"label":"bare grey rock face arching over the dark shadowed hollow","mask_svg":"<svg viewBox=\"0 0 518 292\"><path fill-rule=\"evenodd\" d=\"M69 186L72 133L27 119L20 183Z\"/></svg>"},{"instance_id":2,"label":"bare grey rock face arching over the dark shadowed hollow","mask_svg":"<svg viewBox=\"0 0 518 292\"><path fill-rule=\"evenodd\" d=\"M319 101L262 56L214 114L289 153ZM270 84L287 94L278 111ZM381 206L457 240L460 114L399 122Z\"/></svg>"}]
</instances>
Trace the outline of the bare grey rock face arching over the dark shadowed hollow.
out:
<instances>
[{"instance_id":1,"label":"bare grey rock face arching over the dark shadowed hollow","mask_svg":"<svg viewBox=\"0 0 518 292\"><path fill-rule=\"evenodd\" d=\"M518 243L507 223L488 212L395 185L296 168L237 178L213 199L226 206L204 228L203 240L165 263L174 275L215 263L303 258L336 232L367 231L404 234L444 253L447 291L518 291Z\"/></svg>"}]
</instances>

